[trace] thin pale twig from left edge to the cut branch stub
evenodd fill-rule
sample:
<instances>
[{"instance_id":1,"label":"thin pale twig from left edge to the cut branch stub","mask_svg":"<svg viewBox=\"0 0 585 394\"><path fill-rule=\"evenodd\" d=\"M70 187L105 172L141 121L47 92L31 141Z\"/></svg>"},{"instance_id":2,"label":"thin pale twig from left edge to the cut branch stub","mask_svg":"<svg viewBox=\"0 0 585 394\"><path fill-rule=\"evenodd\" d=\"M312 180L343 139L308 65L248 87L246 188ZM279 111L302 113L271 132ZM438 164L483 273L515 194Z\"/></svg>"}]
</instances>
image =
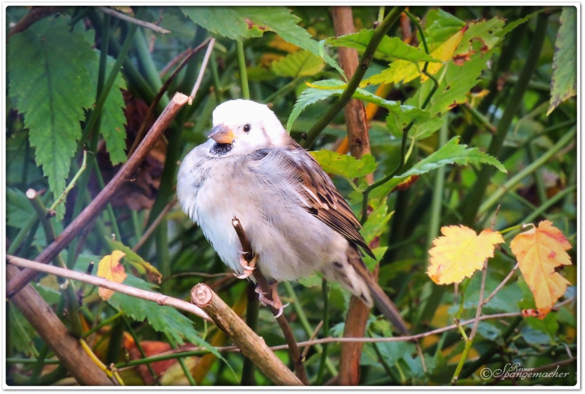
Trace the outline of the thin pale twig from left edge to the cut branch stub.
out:
<instances>
[{"instance_id":1,"label":"thin pale twig from left edge to the cut branch stub","mask_svg":"<svg viewBox=\"0 0 585 394\"><path fill-rule=\"evenodd\" d=\"M26 260L16 256L6 256L6 261L9 264L16 265L17 267L34 269L36 271L47 272L47 274L57 275L63 278L74 279L75 281L85 282L91 285L103 287L123 294L128 294L133 297L149 300L156 302L159 305L168 305L176 307L177 309L190 312L202 319L209 320L207 313L203 312L197 306L191 303L185 302L178 298L173 298L160 293L153 293L142 289L133 288L132 286L123 285L121 283L108 281L108 279L94 277L93 275L83 274L82 272L73 271L73 269L66 269L60 267L54 267L53 265L42 264L40 262Z\"/></svg>"}]
</instances>

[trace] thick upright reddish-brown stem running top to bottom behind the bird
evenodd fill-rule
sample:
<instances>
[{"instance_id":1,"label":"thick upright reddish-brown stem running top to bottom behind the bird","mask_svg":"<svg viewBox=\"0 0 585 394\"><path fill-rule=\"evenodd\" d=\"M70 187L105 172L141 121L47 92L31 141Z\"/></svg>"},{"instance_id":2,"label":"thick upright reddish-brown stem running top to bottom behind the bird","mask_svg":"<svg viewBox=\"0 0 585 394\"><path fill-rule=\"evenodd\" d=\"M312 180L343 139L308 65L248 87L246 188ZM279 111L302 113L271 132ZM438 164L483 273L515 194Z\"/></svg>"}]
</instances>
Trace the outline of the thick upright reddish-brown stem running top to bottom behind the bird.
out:
<instances>
[{"instance_id":1,"label":"thick upright reddish-brown stem running top to bottom behind the bird","mask_svg":"<svg viewBox=\"0 0 585 394\"><path fill-rule=\"evenodd\" d=\"M353 27L353 13L350 6L334 6L331 8L333 28L336 36L355 32ZM339 63L348 78L356 72L359 65L357 50L339 47ZM362 101L352 99L343 109L347 125L349 151L353 157L360 158L370 153L370 139L366 122L366 109ZM368 183L373 182L373 175L366 177ZM374 276L377 277L377 267ZM347 310L344 337L363 337L366 330L367 318L370 309L359 298L352 296ZM341 347L339 381L342 386L355 386L360 379L360 357L363 343L344 343Z\"/></svg>"}]
</instances>

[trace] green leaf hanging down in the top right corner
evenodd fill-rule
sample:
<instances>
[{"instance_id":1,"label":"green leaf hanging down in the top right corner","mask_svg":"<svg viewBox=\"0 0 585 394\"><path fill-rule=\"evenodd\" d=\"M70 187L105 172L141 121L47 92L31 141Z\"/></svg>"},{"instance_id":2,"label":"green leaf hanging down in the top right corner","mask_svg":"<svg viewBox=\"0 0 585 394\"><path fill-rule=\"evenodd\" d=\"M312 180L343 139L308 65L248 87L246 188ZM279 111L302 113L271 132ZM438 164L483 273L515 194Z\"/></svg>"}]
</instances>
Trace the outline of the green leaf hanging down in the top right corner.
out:
<instances>
[{"instance_id":1,"label":"green leaf hanging down in the top right corner","mask_svg":"<svg viewBox=\"0 0 585 394\"><path fill-rule=\"evenodd\" d=\"M563 7L552 60L549 115L560 103L577 95L577 8Z\"/></svg>"}]
</instances>

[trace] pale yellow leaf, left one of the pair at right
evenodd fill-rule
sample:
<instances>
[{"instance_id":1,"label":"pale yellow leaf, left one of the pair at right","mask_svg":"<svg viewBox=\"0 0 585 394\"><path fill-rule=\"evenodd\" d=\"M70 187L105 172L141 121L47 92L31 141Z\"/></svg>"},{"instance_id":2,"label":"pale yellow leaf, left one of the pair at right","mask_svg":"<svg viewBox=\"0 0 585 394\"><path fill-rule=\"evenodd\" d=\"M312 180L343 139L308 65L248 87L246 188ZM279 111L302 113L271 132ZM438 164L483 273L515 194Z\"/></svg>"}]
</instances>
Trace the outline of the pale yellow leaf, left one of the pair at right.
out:
<instances>
[{"instance_id":1,"label":"pale yellow leaf, left one of the pair at right","mask_svg":"<svg viewBox=\"0 0 585 394\"><path fill-rule=\"evenodd\" d=\"M497 231L486 229L479 235L465 226L441 227L442 237L433 240L429 250L431 265L426 270L438 285L459 283L483 268L488 257L494 257L495 245L504 242Z\"/></svg>"}]
</instances>

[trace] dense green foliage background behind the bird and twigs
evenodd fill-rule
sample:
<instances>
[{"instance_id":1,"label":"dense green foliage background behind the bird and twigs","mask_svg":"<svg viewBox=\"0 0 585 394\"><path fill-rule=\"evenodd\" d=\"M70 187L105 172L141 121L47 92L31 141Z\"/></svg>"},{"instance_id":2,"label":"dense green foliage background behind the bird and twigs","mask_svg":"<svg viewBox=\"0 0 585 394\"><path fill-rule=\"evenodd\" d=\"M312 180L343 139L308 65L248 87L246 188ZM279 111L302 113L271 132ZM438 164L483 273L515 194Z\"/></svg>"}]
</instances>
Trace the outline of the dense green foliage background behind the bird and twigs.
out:
<instances>
[{"instance_id":1,"label":"dense green foliage background behind the bird and twigs","mask_svg":"<svg viewBox=\"0 0 585 394\"><path fill-rule=\"evenodd\" d=\"M565 36L560 34L559 18L567 11L559 7L547 8L541 14L546 14L548 18L542 17L543 21L537 22L541 14L535 12L542 9L545 8L409 8L412 15L422 20L431 53L433 48L441 47L457 31L449 29L457 27L460 21L469 23L467 26L470 27L476 19L490 20L493 25L486 30L494 31L477 33L480 39L471 44L472 52L468 53L470 58L456 51L451 52L449 58L443 59L450 67L448 74L443 74L446 75L443 81L452 84L448 87L442 85L439 94L433 96L431 108L435 112L407 115L414 118L408 118L405 122L402 120L401 124L405 125L408 120L416 119L419 123L415 124L414 129L420 132L415 143L412 143L405 170L445 146L446 141L455 136L460 136L469 147L488 151L494 133L502 128L501 122L506 122L503 120L505 110L514 104L511 99L520 98L517 102L518 110L512 113L514 117L509 119L511 122L506 123L504 133L501 134L501 137L505 137L503 146L490 152L503 163L507 174L485 170L487 165L479 165L485 163L485 159L457 161L450 157L447 160L450 163L473 164L441 166L432 172L428 169L411 187L391 193L387 200L385 196L389 189L384 193L373 192L372 203L374 206L379 205L379 209L370 216L370 226L374 227L370 235L372 239L377 238L380 244L377 249L381 257L380 284L404 312L405 320L412 324L413 333L451 324L456 314L462 320L475 316L480 275L474 275L458 292L453 291L453 286L435 285L426 276L427 251L442 225L464 223L483 229L490 226L496 206L501 205L495 221L496 229L525 222L536 223L541 219L551 220L573 245L570 254L572 261L576 262L577 139L574 131L577 101L571 98L576 94L574 88L571 91L571 81L576 74L570 71L576 61L571 55L574 49L571 33L576 33L576 30L570 30L573 25L569 20L563 24L568 33ZM271 103L283 124L291 125L291 134L296 139L301 139L302 133L315 125L319 117L331 108L335 100L332 94L342 92L342 89L319 89L327 84L335 85L333 82L322 82L324 80L343 80L339 71L333 67L337 58L335 48L324 48L318 43L319 40L335 36L329 8L295 6L290 8L292 13L283 7L242 10L226 7L132 8L131 15L138 19L154 22L161 18L160 26L171 30L171 33L163 35L142 27L136 29L131 23L116 18L109 19L92 6L63 7L57 10L59 13L41 19L22 33L9 38L9 84L6 95L8 254L33 259L47 244L46 233L38 221L35 223L36 214L24 195L25 191L29 188L44 191L42 199L46 205L51 205L77 173L81 165L81 148L88 151L87 170L78 179L66 202L57 206L57 216L50 220L54 231L59 234L103 188L104 182L112 178L119 164L126 160L128 148L145 121L147 108L171 73L163 73L161 70L185 49L197 46L209 36L216 37L217 42L193 105L183 109L165 137L153 148L136 178L119 190L111 206L61 253L68 267L85 271L90 261L98 262L112 250L122 248L119 243L135 246L154 219L173 203L177 161L192 147L205 141L211 126L211 112L219 102L240 98L245 94L241 83L244 70L238 65L237 40L243 42L245 48L243 55L247 65L250 97ZM6 12L6 32L29 12L29 8L9 7ZM245 25L242 30L242 26L238 25L246 22L242 19L242 12L249 13L250 18L257 23L256 27L247 29ZM356 32L376 26L379 13L378 7L353 7ZM450 19L449 16L456 19ZM526 16L529 17L525 23L497 37L497 32L505 32L504 25L510 26L513 21ZM436 30L431 28L432 18L435 18ZM542 24L537 26L537 23ZM406 25L410 26L411 33L405 30ZM539 30L542 26L543 31ZM132 40L128 40L128 47L125 47L125 38L132 34ZM420 43L415 26L409 22L396 23L388 36ZM531 46L535 40L538 41L538 37L543 39L542 50L531 58ZM328 43L334 44L332 40ZM364 45L360 45L357 46L363 50ZM304 50L299 50L299 46ZM101 52L105 47L109 55L107 58ZM555 50L556 56L563 56L556 63ZM325 60L319 57L322 51ZM446 49L443 47L442 51ZM420 53L424 53L422 48ZM481 64L470 66L480 55L487 56L486 53L491 56L489 60L482 58L483 63L480 61ZM422 98L428 94L432 81L421 84L416 70L417 77L408 82L401 83L400 74L387 74L386 77L380 77L381 80L375 79L375 75L381 71L393 70L393 63L405 61L400 60L400 56L397 60L392 54L390 51L389 54L376 56L370 64L364 80L374 77L370 81L377 82L364 86L365 92L361 98L372 101L367 98L367 94L376 94L388 101L421 106ZM462 56L457 57L458 54ZM169 96L175 91L186 94L191 91L202 57L201 52L177 75L168 89ZM461 64L456 65L453 58ZM116 59L119 59L122 67L110 79L110 71L117 70ZM534 62L535 70L528 75L530 79L526 88L516 96L514 91L521 85L522 72L527 62ZM408 65L408 62L405 64ZM442 70L445 70L440 63L439 68L432 68L432 65L429 63L432 74L441 75ZM563 70L555 71L555 68L563 66ZM397 67L394 72L404 70L402 67L405 65ZM567 67L569 71L565 71ZM553 75L556 75L556 80ZM477 77L479 80L476 84ZM387 82L385 88L378 87L380 81ZM558 107L548 113L551 81L553 102ZM308 86L304 82L312 85ZM448 93L450 89L459 90ZM100 101L100 93L104 90L109 90L109 93L102 96ZM460 97L457 96L459 98L456 101L460 105L451 105L452 97L449 94L456 93L459 93ZM169 96L163 96L155 109L156 115ZM300 98L314 103L302 108L302 112L297 110L298 118L292 123L288 115L295 112L297 102L296 108L300 109L299 105L303 103ZM447 98L449 101L446 101ZM401 158L402 130L391 125L388 130L387 126L390 119L387 119L387 115L396 113L395 104L385 103L381 106L386 108L377 110L369 123L371 153L377 163L373 167L376 168L374 179L390 174ZM438 119L441 121L437 122ZM345 122L340 112L322 130L312 149L338 150L345 135ZM556 148L555 144L561 140L568 143ZM537 163L519 182L506 183L518 172L530 168L538 158L550 153L552 155L548 160ZM324 155L318 154L318 158L326 165L329 159ZM370 159L360 161L366 165L367 161L364 160ZM352 166L355 167L355 163ZM363 174L348 174L347 170L335 168L335 165L329 170L341 175L335 176L333 181L343 195L350 197L358 214L360 191L366 185ZM357 191L347 181L356 177L362 178L358 179ZM483 181L486 182L485 190L478 186ZM500 193L498 190L502 185L506 188ZM173 208L168 210L164 219L156 224L153 236L137 250L140 257L127 256L126 271L133 275L129 275L125 283L152 288L153 284L148 283L144 272L136 270L142 261L148 261L162 274L163 280L158 289L161 293L188 299L193 285L207 282L229 305L239 313L244 313L246 283L233 279L231 274L223 274L226 268L202 236L201 230L192 225L178 206L171 206ZM115 234L115 240L119 243L111 241L111 234ZM139 263L134 261L132 265L130 260L133 258ZM504 247L498 251L490 261L486 291L493 291L514 263L509 249ZM370 261L370 264L374 262ZM132 267L135 267L133 271ZM576 293L576 266L565 267L563 275L573 284L566 294L566 298L571 298ZM328 314L331 327L327 335L319 333L319 336L342 334L349 295L331 284L328 304L325 306L320 284L321 279L313 277L300 284L280 286L283 299L291 302L286 313L298 341L309 338L324 318L324 311ZM189 357L180 358L181 362L175 359L150 364L149 368L154 368L152 370L144 367L123 369L122 377L126 384L166 385L195 381L203 385L240 384L242 368L245 368L244 358L233 352L223 352L221 357L218 357L220 354L216 351L214 354L209 353L211 347L229 344L216 327L196 318L191 321L191 317L168 307L163 309L121 294L105 302L97 296L97 289L77 285L84 294L79 310L82 332L96 331L87 336L88 342L106 365L114 363L123 368L127 360L142 358L136 342L142 343L142 350L148 355L181 345L188 348L187 344L207 348L191 352ZM63 315L64 310L68 312L71 309L68 304L70 301L64 295L66 292L60 290L54 277L40 277L35 288L60 315ZM534 299L517 273L484 307L484 313L518 312L530 307L534 307ZM8 383L64 383L67 371L55 366L58 362L54 361L52 352L18 309L9 305L6 317ZM63 319L67 326L71 326L68 317L64 316ZM103 322L107 324L100 324ZM278 325L265 308L260 308L257 333L270 345L283 343ZM384 320L376 319L376 315L371 315L366 336L391 336L391 327ZM576 336L574 304L560 308L544 320L534 317L485 320L479 324L479 337L464 365L459 384L574 385L577 379L576 362L563 362L576 354ZM460 333L452 330L442 335L429 336L421 344L426 373L411 343L366 344L360 361L360 384L449 383L463 350ZM312 347L308 351L305 367L313 384L322 384L336 375L340 345L330 344L327 351L326 363L322 362L322 347ZM286 351L278 351L277 354L288 362ZM43 360L46 362L43 363ZM552 371L560 362L558 371L569 374L566 378L526 380L486 380L479 376L484 366L495 370L513 362L520 362L528 368L550 367ZM159 379L154 379L153 375L159 376ZM255 373L254 381L247 382L270 384L260 372Z\"/></svg>"}]
</instances>

